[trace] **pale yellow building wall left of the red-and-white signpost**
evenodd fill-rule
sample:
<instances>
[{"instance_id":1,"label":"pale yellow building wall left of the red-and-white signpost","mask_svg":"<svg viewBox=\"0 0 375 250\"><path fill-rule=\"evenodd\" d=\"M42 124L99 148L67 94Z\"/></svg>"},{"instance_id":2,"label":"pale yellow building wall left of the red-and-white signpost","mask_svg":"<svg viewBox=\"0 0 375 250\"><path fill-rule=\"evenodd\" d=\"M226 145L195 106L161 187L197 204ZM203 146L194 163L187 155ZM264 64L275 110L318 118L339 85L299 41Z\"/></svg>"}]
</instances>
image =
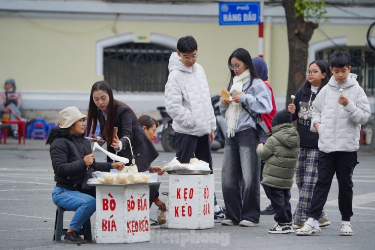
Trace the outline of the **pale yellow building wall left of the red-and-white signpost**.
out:
<instances>
[{"instance_id":1,"label":"pale yellow building wall left of the red-and-white signpost","mask_svg":"<svg viewBox=\"0 0 375 250\"><path fill-rule=\"evenodd\" d=\"M16 80L23 91L90 91L103 76L95 74L95 43L116 35L113 21L2 18L0 40L3 81ZM149 39L151 32L180 38L193 35L198 42L198 63L212 93L229 82L230 54L238 47L257 55L258 26L219 26L217 23L125 22L117 34L134 32ZM146 41L147 42L147 41Z\"/></svg>"}]
</instances>

